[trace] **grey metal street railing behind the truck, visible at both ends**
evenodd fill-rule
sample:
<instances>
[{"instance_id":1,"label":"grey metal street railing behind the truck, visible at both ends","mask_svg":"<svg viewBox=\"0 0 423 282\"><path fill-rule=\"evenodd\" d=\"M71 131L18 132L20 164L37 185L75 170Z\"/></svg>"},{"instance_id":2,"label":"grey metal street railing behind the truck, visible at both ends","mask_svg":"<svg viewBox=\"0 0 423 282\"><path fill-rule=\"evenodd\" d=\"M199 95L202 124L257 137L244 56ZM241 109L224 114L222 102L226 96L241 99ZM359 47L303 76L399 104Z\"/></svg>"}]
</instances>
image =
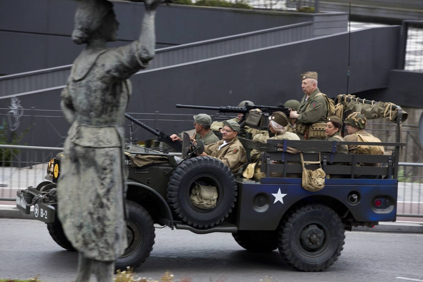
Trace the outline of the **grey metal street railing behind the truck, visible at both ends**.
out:
<instances>
[{"instance_id":1,"label":"grey metal street railing behind the truck, visible at both ends","mask_svg":"<svg viewBox=\"0 0 423 282\"><path fill-rule=\"evenodd\" d=\"M0 145L0 205L16 191L44 181L47 164L63 148ZM423 217L423 163L399 163L397 216ZM1 201L4 201L3 203Z\"/></svg>"}]
</instances>

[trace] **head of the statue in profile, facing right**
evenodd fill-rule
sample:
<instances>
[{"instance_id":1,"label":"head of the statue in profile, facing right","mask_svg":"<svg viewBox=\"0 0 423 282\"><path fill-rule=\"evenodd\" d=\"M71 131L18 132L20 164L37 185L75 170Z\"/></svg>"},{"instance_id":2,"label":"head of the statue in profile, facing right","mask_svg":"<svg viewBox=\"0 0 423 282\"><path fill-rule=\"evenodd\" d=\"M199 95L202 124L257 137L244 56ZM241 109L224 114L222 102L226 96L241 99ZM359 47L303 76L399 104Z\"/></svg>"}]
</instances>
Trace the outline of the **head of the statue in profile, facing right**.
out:
<instances>
[{"instance_id":1,"label":"head of the statue in profile, facing right","mask_svg":"<svg viewBox=\"0 0 423 282\"><path fill-rule=\"evenodd\" d=\"M113 4L107 0L79 0L74 18L72 40L83 44L93 37L116 41L119 23L116 21Z\"/></svg>"}]
</instances>

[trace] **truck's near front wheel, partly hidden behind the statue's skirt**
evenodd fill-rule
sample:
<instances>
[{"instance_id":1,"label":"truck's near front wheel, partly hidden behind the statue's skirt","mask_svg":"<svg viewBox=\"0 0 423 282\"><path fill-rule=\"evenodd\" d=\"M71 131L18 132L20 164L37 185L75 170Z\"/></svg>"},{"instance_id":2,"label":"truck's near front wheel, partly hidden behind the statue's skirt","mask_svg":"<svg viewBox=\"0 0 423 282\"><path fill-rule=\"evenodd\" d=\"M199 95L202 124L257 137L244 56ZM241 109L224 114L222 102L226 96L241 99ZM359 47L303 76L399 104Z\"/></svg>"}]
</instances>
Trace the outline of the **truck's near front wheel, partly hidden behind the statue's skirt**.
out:
<instances>
[{"instance_id":1,"label":"truck's near front wheel, partly hidden behind the statue's skirt","mask_svg":"<svg viewBox=\"0 0 423 282\"><path fill-rule=\"evenodd\" d=\"M150 214L141 205L126 201L129 218L126 219L128 247L115 261L115 268L126 270L127 266L137 268L144 263L154 245L154 223Z\"/></svg>"}]
</instances>

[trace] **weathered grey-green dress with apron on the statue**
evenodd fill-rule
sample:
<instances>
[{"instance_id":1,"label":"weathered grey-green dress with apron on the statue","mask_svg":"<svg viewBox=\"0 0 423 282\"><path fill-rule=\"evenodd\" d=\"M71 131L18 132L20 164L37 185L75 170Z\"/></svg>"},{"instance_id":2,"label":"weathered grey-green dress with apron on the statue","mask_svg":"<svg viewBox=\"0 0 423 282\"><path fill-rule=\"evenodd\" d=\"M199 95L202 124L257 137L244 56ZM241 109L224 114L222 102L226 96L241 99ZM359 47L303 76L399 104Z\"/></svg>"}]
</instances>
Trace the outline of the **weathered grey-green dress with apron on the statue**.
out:
<instances>
[{"instance_id":1,"label":"weathered grey-green dress with apron on the statue","mask_svg":"<svg viewBox=\"0 0 423 282\"><path fill-rule=\"evenodd\" d=\"M146 68L138 42L85 49L74 61L61 107L72 124L58 179L58 216L71 244L85 257L112 261L126 246L123 162L129 77Z\"/></svg>"}]
</instances>

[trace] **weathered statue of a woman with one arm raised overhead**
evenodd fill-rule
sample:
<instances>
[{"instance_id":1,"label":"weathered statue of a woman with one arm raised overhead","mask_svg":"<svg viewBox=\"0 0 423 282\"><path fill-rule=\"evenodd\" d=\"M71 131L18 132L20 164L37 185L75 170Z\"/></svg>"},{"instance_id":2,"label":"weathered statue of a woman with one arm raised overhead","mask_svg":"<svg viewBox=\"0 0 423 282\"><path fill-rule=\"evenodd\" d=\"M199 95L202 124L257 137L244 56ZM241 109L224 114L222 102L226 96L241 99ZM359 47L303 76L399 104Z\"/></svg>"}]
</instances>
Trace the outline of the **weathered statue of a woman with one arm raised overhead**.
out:
<instances>
[{"instance_id":1,"label":"weathered statue of a woman with one arm raised overhead","mask_svg":"<svg viewBox=\"0 0 423 282\"><path fill-rule=\"evenodd\" d=\"M78 1L72 40L86 44L76 58L61 97L71 123L58 183L58 216L79 252L77 282L112 281L114 261L127 246L123 163L124 112L131 95L129 77L154 57L156 8L145 0L138 41L107 48L119 23L107 0Z\"/></svg>"}]
</instances>

